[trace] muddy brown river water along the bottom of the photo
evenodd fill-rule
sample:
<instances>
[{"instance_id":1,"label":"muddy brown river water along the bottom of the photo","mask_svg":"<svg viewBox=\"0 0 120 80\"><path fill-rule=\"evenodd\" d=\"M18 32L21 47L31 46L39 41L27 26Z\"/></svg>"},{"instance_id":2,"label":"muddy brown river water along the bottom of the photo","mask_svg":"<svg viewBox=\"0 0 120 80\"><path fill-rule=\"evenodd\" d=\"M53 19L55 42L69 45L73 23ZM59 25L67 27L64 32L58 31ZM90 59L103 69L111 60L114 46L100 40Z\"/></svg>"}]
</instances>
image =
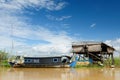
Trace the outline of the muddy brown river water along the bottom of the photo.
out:
<instances>
[{"instance_id":1,"label":"muddy brown river water along the bottom of the photo","mask_svg":"<svg viewBox=\"0 0 120 80\"><path fill-rule=\"evenodd\" d=\"M120 68L0 68L0 80L120 80Z\"/></svg>"}]
</instances>

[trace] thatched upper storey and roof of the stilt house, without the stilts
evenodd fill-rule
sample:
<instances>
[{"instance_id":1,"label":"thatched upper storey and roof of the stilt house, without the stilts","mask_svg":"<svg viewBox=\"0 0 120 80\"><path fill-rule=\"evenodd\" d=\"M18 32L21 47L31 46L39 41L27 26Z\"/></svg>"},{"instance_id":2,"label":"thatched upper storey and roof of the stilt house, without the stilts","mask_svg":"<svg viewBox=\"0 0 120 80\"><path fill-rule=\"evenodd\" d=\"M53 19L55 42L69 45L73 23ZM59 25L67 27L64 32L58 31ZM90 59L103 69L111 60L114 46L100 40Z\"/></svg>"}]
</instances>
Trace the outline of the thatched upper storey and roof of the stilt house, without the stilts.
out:
<instances>
[{"instance_id":1,"label":"thatched upper storey and roof of the stilt house, without the stilts","mask_svg":"<svg viewBox=\"0 0 120 80\"><path fill-rule=\"evenodd\" d=\"M113 53L115 50L113 47L103 43L103 42L73 42L72 43L72 48L73 52L80 52L84 53L85 52L85 46L87 47L89 52L108 52L108 53Z\"/></svg>"}]
</instances>

